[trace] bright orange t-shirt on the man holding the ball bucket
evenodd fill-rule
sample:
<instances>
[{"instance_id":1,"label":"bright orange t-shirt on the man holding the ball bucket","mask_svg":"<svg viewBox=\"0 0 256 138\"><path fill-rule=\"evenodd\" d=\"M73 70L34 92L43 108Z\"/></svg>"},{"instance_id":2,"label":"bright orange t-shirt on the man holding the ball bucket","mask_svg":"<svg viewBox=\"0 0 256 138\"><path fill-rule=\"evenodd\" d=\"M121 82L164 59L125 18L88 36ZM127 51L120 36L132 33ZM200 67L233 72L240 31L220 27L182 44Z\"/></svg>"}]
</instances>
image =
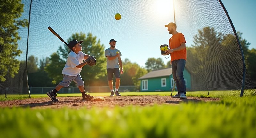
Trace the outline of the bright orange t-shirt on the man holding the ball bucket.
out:
<instances>
[{"instance_id":1,"label":"bright orange t-shirt on the man holding the ball bucket","mask_svg":"<svg viewBox=\"0 0 256 138\"><path fill-rule=\"evenodd\" d=\"M183 42L186 43L184 35L182 33L178 33L178 34L172 35L172 37L169 39L169 46L171 49L175 49L181 46L181 43ZM171 61L177 60L177 59L187 60L186 48L180 51L175 51L171 54Z\"/></svg>"}]
</instances>

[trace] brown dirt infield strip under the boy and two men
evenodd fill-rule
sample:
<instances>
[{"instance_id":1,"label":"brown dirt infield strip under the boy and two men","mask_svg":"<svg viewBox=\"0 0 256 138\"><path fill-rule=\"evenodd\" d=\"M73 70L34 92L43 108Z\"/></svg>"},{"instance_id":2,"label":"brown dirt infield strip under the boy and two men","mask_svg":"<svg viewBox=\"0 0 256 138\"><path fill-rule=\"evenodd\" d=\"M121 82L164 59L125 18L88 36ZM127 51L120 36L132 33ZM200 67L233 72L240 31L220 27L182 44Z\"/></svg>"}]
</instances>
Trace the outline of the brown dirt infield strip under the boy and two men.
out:
<instances>
[{"instance_id":1,"label":"brown dirt infield strip under the boy and two men","mask_svg":"<svg viewBox=\"0 0 256 138\"><path fill-rule=\"evenodd\" d=\"M105 101L82 102L82 97L58 97L59 102L53 102L50 98L31 98L25 100L12 100L0 102L0 107L30 107L30 108L81 108L81 107L115 107L115 106L128 106L128 105L154 105L154 104L179 104L181 102L208 102L218 101L218 98L197 98L187 97L187 99L172 98L171 96L104 96Z\"/></svg>"}]
</instances>

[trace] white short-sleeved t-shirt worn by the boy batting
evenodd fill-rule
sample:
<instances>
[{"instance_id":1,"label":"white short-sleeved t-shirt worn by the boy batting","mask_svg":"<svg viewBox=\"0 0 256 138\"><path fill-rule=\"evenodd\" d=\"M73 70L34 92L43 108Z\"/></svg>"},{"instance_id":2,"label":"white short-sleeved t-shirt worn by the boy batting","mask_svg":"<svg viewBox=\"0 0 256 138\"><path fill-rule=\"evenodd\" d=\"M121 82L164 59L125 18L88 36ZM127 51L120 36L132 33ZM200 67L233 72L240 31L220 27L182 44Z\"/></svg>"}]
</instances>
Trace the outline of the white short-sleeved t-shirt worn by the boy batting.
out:
<instances>
[{"instance_id":1,"label":"white short-sleeved t-shirt worn by the boy batting","mask_svg":"<svg viewBox=\"0 0 256 138\"><path fill-rule=\"evenodd\" d=\"M77 68L76 66L84 62L84 55L85 54L81 51L79 51L78 54L70 51L65 67L62 70L62 74L68 76L77 76L81 72L82 68Z\"/></svg>"}]
</instances>

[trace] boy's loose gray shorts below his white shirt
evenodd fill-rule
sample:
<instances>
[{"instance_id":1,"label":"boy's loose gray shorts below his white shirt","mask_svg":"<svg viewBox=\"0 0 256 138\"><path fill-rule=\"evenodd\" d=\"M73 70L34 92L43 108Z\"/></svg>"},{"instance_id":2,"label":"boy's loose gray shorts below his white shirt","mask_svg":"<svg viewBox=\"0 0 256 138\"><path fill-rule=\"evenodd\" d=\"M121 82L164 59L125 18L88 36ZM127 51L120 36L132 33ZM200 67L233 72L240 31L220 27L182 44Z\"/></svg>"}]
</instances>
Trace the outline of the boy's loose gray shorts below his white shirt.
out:
<instances>
[{"instance_id":1,"label":"boy's loose gray shorts below his white shirt","mask_svg":"<svg viewBox=\"0 0 256 138\"><path fill-rule=\"evenodd\" d=\"M63 80L60 82L60 85L64 87L68 87L71 81L74 81L77 87L84 85L84 81L80 76L80 74L78 74L77 76L63 75Z\"/></svg>"}]
</instances>

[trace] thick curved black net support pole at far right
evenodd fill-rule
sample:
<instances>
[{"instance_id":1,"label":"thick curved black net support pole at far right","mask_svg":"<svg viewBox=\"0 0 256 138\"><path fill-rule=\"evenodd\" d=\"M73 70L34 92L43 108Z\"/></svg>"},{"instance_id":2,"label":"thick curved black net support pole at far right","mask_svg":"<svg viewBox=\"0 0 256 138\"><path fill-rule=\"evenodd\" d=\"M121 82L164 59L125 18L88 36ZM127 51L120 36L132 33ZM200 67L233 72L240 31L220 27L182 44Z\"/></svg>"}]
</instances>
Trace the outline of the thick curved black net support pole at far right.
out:
<instances>
[{"instance_id":1,"label":"thick curved black net support pole at far right","mask_svg":"<svg viewBox=\"0 0 256 138\"><path fill-rule=\"evenodd\" d=\"M245 74L246 74L246 67L245 67L243 49L242 49L241 43L240 43L240 41L239 41L238 35L237 35L237 33L236 33L236 29L235 29L235 27L234 27L234 25L233 25L233 23L232 23L232 21L231 21L229 15L228 15L228 11L227 11L226 8L224 7L224 5L223 5L223 3L221 2L221 0L219 0L219 2L220 2L220 4L221 4L223 10L225 11L225 13L226 13L226 15L227 15L227 17L228 17L229 23L230 23L230 25L231 25L231 27L232 27L232 29L233 29L233 32L234 32L234 34L235 34L235 36L236 36L236 41L237 41L237 43L238 43L238 45L239 45L239 49L240 49L240 52L241 52L241 57L242 57L242 62L243 62L243 80L242 80L242 86L241 86L240 97L243 97L243 94L244 94L244 85L245 85Z\"/></svg>"}]
</instances>

